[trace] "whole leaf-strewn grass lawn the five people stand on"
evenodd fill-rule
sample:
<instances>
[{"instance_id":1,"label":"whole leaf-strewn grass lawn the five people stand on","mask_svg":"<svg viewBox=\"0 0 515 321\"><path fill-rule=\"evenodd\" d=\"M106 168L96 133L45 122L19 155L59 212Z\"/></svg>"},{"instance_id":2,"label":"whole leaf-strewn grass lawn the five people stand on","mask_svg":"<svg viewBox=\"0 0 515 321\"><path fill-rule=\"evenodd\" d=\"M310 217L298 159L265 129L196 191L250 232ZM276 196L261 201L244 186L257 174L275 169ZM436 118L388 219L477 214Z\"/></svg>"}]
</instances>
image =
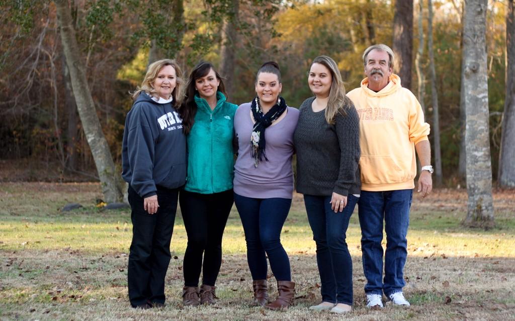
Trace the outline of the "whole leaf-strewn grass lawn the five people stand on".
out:
<instances>
[{"instance_id":1,"label":"whole leaf-strewn grass lawn the five people stand on","mask_svg":"<svg viewBox=\"0 0 515 321\"><path fill-rule=\"evenodd\" d=\"M182 307L186 233L178 212L166 276L167 306L131 309L127 298L130 212L99 210L95 199L100 195L95 183L0 183L0 320L515 319L513 191L495 192L497 227L489 231L460 227L466 214L464 190L437 190L426 200L414 196L405 267L408 309L365 307L356 209L347 232L355 302L353 312L345 317L307 309L320 301L320 280L315 243L299 195L281 238L297 282L296 301L293 308L281 312L249 305L252 280L235 208L224 235L216 306ZM61 212L66 203L84 207ZM270 294L276 296L274 284Z\"/></svg>"}]
</instances>

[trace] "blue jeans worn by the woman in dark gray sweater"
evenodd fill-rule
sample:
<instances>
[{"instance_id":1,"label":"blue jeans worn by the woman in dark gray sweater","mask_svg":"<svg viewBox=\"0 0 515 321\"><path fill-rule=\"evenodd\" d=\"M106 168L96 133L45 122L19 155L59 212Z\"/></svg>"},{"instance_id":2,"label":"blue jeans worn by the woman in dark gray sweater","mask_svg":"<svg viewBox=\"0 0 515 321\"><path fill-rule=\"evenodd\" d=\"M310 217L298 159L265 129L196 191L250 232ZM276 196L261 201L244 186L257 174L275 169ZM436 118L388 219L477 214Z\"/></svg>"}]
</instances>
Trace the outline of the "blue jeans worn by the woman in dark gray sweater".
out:
<instances>
[{"instance_id":1,"label":"blue jeans worn by the woman in dark gray sweater","mask_svg":"<svg viewBox=\"0 0 515 321\"><path fill-rule=\"evenodd\" d=\"M330 196L304 195L307 219L317 245L322 301L352 305L352 258L345 242L358 198L349 195L342 212L331 209Z\"/></svg>"}]
</instances>

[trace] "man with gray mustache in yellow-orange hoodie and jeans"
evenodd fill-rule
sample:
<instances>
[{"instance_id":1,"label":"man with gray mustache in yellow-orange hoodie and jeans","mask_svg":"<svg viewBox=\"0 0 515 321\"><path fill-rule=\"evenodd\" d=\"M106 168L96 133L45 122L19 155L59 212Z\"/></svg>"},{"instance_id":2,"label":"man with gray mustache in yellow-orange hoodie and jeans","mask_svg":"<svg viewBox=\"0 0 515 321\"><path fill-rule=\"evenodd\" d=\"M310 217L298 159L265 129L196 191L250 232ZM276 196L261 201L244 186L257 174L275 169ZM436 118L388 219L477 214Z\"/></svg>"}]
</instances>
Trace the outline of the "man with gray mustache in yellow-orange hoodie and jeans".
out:
<instances>
[{"instance_id":1,"label":"man with gray mustache in yellow-orange hoodie and jeans","mask_svg":"<svg viewBox=\"0 0 515 321\"><path fill-rule=\"evenodd\" d=\"M363 54L367 77L361 87L348 94L359 116L362 191L358 213L367 278L365 293L367 306L380 308L383 293L394 305L409 306L402 288L409 208L417 174L415 150L422 165L418 192L425 197L433 186L429 124L424 121L417 98L401 87L401 79L392 73L393 60L390 47L368 47Z\"/></svg>"}]
</instances>

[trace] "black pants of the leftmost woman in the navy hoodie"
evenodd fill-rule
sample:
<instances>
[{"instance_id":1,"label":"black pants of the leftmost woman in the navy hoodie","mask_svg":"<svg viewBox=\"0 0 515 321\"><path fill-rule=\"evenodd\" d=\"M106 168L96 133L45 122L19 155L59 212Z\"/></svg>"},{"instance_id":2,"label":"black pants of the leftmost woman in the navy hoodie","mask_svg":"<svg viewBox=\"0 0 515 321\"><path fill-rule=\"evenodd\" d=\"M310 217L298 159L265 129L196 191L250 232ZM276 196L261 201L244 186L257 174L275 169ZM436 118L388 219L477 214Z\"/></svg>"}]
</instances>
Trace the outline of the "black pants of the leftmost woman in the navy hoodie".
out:
<instances>
[{"instance_id":1,"label":"black pants of the leftmost woman in the navy hoodie","mask_svg":"<svg viewBox=\"0 0 515 321\"><path fill-rule=\"evenodd\" d=\"M143 208L143 198L129 185L132 243L127 281L133 307L164 303L164 279L170 263L170 241L174 231L179 189L159 187L159 209L150 215Z\"/></svg>"}]
</instances>

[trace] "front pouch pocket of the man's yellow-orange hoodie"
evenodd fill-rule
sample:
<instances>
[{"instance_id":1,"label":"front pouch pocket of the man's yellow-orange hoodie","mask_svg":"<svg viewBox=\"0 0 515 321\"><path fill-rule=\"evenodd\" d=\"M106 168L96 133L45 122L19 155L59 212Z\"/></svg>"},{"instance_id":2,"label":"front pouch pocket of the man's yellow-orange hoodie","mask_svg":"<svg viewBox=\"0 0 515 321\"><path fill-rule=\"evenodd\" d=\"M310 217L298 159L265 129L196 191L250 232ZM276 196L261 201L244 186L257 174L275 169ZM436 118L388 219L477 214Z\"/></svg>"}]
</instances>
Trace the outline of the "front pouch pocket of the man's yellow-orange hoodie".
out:
<instances>
[{"instance_id":1,"label":"front pouch pocket of the man's yellow-orange hoodie","mask_svg":"<svg viewBox=\"0 0 515 321\"><path fill-rule=\"evenodd\" d=\"M401 183L409 179L409 168L402 169L390 156L361 156L361 181L364 184Z\"/></svg>"}]
</instances>

